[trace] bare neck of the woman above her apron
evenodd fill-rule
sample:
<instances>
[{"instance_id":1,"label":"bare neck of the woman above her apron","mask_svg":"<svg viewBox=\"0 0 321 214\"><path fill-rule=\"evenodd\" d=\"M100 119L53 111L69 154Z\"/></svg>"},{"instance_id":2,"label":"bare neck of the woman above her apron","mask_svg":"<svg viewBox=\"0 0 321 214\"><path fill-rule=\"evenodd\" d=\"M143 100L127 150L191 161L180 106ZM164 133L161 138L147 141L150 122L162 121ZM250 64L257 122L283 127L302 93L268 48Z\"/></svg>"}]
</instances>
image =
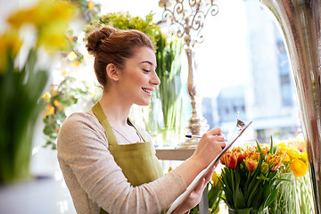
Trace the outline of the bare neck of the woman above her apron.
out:
<instances>
[{"instance_id":1,"label":"bare neck of the woman above her apron","mask_svg":"<svg viewBox=\"0 0 321 214\"><path fill-rule=\"evenodd\" d=\"M126 126L128 113L132 104L127 103L121 99L121 96L116 93L103 92L103 96L100 99L99 103L103 108L109 123L112 126Z\"/></svg>"}]
</instances>

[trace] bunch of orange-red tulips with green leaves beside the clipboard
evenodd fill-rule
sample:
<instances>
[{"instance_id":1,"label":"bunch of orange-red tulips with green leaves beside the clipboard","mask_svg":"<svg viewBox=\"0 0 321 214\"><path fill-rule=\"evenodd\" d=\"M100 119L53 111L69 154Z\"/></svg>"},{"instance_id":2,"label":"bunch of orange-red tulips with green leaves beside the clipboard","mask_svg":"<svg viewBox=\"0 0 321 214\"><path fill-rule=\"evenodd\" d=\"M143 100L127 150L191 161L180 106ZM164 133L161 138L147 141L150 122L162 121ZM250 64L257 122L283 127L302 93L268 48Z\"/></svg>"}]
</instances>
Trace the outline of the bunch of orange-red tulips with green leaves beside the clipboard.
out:
<instances>
[{"instance_id":1,"label":"bunch of orange-red tulips with green leaves beside the clipboard","mask_svg":"<svg viewBox=\"0 0 321 214\"><path fill-rule=\"evenodd\" d=\"M235 147L221 158L225 165L219 181L223 200L230 210L239 213L262 211L274 202L277 186L284 180L276 177L286 152L271 145L258 144Z\"/></svg>"}]
</instances>

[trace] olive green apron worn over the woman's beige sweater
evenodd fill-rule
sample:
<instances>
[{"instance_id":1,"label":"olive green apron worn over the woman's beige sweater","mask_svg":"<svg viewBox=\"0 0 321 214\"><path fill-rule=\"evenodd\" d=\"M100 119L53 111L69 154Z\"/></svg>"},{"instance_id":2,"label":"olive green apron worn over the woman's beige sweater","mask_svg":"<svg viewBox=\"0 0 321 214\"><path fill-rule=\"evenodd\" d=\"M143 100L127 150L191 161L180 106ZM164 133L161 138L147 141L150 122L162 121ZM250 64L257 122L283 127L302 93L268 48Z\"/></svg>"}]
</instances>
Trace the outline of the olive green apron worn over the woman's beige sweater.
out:
<instances>
[{"instance_id":1,"label":"olive green apron worn over the woman's beige sweater","mask_svg":"<svg viewBox=\"0 0 321 214\"><path fill-rule=\"evenodd\" d=\"M92 111L103 125L108 140L108 150L131 185L143 185L163 176L161 164L152 152L151 143L146 142L137 129L144 143L118 144L100 103L96 103ZM130 120L129 123L134 127ZM107 212L101 209L99 213Z\"/></svg>"}]
</instances>

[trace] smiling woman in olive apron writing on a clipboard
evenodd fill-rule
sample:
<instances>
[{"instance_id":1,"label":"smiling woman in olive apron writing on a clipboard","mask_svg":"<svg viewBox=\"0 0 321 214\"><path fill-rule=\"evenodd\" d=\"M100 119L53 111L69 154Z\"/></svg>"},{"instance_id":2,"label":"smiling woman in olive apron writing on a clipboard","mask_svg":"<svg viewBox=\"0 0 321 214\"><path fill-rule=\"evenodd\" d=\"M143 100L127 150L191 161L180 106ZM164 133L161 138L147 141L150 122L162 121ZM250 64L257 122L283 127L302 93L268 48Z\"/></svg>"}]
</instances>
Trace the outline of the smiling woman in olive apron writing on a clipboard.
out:
<instances>
[{"instance_id":1,"label":"smiling woman in olive apron writing on a clipboard","mask_svg":"<svg viewBox=\"0 0 321 214\"><path fill-rule=\"evenodd\" d=\"M220 128L202 136L192 157L165 176L151 137L128 119L135 103L148 105L160 85L151 40L110 27L87 37L103 96L91 111L74 113L58 136L58 160L78 213L161 213L225 146ZM108 120L107 120L108 119ZM176 213L200 202L214 169Z\"/></svg>"}]
</instances>

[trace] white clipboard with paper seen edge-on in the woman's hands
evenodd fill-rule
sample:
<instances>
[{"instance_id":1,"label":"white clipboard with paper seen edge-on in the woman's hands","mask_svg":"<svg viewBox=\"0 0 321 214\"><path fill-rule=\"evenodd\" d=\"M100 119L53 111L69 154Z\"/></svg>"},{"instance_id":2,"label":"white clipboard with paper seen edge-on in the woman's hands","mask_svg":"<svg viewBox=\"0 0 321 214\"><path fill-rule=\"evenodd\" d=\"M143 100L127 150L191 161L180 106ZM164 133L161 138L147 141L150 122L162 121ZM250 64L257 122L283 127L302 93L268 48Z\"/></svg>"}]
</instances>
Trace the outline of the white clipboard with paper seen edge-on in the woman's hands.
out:
<instances>
[{"instance_id":1,"label":"white clipboard with paper seen edge-on in the woman's hands","mask_svg":"<svg viewBox=\"0 0 321 214\"><path fill-rule=\"evenodd\" d=\"M252 122L252 121L251 121ZM232 144L235 143L235 141L242 136L243 132L245 131L246 128L248 128L251 125L251 122L249 122L248 125L246 125L244 128L242 128L238 134L234 137L232 137L230 140L228 140L226 142L226 147L223 149L222 152L220 152L218 154L218 156L210 162L209 166L206 169L203 169L202 172L200 172L200 174L198 174L197 177L195 177L193 179L193 182L191 183L191 185L188 185L188 187L186 188L185 192L182 193L181 195L179 195L179 197L177 198L177 200L175 200L175 202L172 203L172 205L170 206L169 210L167 211L167 214L171 214L175 209L177 209L178 205L181 204L182 202L184 202L185 198L187 197L187 195L189 193L191 193L193 191L193 189L195 189L195 187L197 186L197 184L199 183L199 181L201 180L202 177L204 177L209 171L210 169L215 165L215 163L217 161L219 161L219 159L223 156L223 154L225 154L225 152L232 146Z\"/></svg>"}]
</instances>

